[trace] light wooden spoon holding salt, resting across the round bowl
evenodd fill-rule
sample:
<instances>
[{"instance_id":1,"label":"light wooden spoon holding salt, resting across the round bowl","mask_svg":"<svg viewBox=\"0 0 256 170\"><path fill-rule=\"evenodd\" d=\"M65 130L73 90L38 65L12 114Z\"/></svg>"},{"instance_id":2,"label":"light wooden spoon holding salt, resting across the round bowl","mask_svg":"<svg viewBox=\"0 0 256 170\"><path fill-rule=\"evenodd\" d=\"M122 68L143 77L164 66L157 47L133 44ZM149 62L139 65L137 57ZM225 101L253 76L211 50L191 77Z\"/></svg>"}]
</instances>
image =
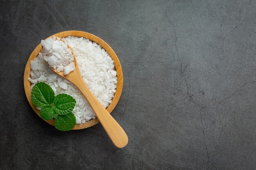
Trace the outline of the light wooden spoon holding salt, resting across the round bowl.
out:
<instances>
[{"instance_id":1,"label":"light wooden spoon holding salt, resting across the round bowl","mask_svg":"<svg viewBox=\"0 0 256 170\"><path fill-rule=\"evenodd\" d=\"M65 42L61 38L60 38L60 40ZM79 67L78 67L78 64L76 61L74 51L68 44L67 44L67 47L72 51L72 54L74 55L73 62L74 62L74 65L76 66L75 70L70 72L68 75L64 75L63 71L58 72L57 68L54 69L51 67L52 70L56 74L69 80L74 85L76 85L77 88L79 88L81 93L84 95L85 99L88 101L88 103L92 107L92 110L98 117L103 128L108 133L108 136L110 137L112 142L118 148L123 148L124 146L126 146L128 144L128 136L126 135L126 132L124 132L124 129L121 128L121 126L117 123L117 121L108 113L108 111L102 106L102 104L99 102L99 100L92 94L92 92L86 86L86 84L83 81L83 78L81 76L81 73L79 71Z\"/></svg>"}]
</instances>

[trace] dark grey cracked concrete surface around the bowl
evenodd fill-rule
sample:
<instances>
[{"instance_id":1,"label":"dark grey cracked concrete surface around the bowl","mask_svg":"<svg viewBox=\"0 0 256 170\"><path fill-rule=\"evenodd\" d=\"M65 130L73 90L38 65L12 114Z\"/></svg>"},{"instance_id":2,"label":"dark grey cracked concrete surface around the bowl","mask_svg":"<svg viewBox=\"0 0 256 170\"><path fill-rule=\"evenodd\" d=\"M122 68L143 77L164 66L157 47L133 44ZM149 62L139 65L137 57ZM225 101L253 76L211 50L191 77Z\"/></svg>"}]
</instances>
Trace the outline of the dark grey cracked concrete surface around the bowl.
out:
<instances>
[{"instance_id":1,"label":"dark grey cracked concrete surface around the bowl","mask_svg":"<svg viewBox=\"0 0 256 170\"><path fill-rule=\"evenodd\" d=\"M29 106L23 71L41 39L90 32L124 72L101 124L60 132ZM1 0L1 170L256 170L256 1Z\"/></svg>"}]
</instances>

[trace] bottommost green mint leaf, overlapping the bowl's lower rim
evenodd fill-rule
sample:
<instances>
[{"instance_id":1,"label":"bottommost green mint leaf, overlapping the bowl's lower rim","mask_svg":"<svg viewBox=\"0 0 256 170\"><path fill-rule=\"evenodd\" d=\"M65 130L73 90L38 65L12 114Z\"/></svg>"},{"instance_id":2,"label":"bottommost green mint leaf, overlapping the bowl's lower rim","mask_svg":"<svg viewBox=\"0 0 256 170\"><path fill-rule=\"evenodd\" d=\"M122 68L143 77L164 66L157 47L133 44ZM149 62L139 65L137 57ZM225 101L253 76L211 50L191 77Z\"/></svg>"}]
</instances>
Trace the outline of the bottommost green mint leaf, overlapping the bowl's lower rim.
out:
<instances>
[{"instance_id":1,"label":"bottommost green mint leaf, overlapping the bowl's lower rim","mask_svg":"<svg viewBox=\"0 0 256 170\"><path fill-rule=\"evenodd\" d=\"M56 129L61 131L68 131L74 128L76 124L75 115L70 112L67 115L58 115L54 121L54 126Z\"/></svg>"}]
</instances>

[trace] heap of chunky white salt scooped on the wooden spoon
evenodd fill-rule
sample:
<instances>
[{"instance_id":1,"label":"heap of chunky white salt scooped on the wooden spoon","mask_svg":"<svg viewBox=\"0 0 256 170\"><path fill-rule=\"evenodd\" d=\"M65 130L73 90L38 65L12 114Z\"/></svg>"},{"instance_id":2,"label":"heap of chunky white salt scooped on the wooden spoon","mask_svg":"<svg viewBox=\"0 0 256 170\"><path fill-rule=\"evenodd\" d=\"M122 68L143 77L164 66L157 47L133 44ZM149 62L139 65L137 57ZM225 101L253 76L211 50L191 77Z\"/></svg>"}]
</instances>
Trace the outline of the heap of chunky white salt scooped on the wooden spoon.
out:
<instances>
[{"instance_id":1,"label":"heap of chunky white salt scooped on the wooden spoon","mask_svg":"<svg viewBox=\"0 0 256 170\"><path fill-rule=\"evenodd\" d=\"M74 65L74 56L72 51L67 47L67 42L63 42L55 36L42 40L43 58L52 68L57 71L64 71L64 75L69 74L76 68Z\"/></svg>"}]
</instances>

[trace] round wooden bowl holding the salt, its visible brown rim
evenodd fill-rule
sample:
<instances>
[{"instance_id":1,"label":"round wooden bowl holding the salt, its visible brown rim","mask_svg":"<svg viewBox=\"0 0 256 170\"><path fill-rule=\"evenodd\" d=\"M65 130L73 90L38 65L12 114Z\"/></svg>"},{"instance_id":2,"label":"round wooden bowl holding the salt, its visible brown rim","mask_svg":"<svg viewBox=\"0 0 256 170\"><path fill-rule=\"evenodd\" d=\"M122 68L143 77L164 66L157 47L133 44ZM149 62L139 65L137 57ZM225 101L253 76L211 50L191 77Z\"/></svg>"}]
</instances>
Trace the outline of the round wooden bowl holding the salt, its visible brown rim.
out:
<instances>
[{"instance_id":1,"label":"round wooden bowl holding the salt, its visible brown rim","mask_svg":"<svg viewBox=\"0 0 256 170\"><path fill-rule=\"evenodd\" d=\"M63 31L63 32L60 32L60 33L56 33L54 35L57 36L57 37L60 37L60 38L67 37L67 36L88 38L89 40L92 40L92 41L96 42L97 44L101 45L101 47L108 52L108 54L110 55L110 57L114 61L115 68L116 68L116 71L117 71L117 89L116 89L116 93L115 93L114 98L112 99L112 102L110 103L110 105L107 108L108 113L111 113L112 110L117 105L117 102L120 99L122 89L123 89L123 71L122 71L121 64L120 64L115 52L111 49L111 47L106 42L101 40L99 37L97 37L95 35L92 35L90 33L83 32L83 31ZM52 36L53 35L51 35L50 37L52 37ZM30 61L34 60L37 57L37 55L41 51L41 49L42 49L42 45L40 43L34 49L34 51L31 53L29 59L27 60L27 64L26 64L25 72L24 72L24 88L25 88L25 93L26 93L26 96L27 96L27 100L29 101L30 106L33 108L33 110L36 112L36 114L39 117L40 117L40 111L37 110L36 106L34 106L32 101L31 101L31 90L30 90L31 82L29 82L28 78L30 77L30 70L31 70ZM45 120L45 121L47 121L51 125L54 125L54 120L53 119L52 120ZM91 127L95 124L98 124L98 123L99 123L99 120L96 117L95 119L92 119L90 121L85 122L85 124L76 124L72 130L89 128L89 127Z\"/></svg>"}]
</instances>

